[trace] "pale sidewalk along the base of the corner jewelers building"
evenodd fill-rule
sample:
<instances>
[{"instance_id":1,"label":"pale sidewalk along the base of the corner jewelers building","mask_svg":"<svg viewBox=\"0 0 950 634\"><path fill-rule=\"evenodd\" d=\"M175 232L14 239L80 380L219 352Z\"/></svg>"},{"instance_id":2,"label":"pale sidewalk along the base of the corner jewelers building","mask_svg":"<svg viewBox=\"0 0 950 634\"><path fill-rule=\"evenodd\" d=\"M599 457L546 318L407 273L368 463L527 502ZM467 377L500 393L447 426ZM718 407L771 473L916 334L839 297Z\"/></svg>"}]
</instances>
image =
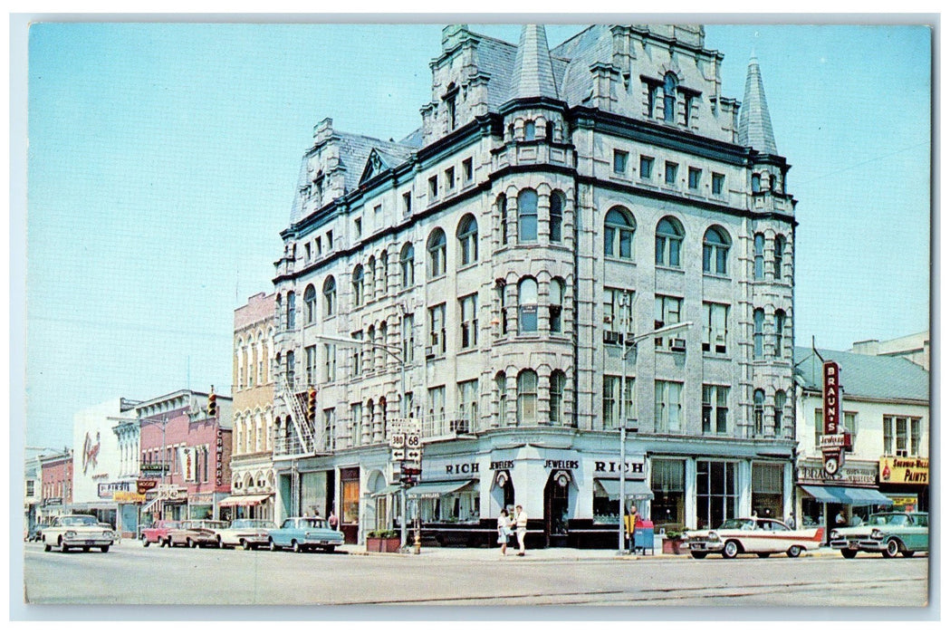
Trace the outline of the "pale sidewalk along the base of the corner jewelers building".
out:
<instances>
[{"instance_id":1,"label":"pale sidewalk along the base of the corner jewelers building","mask_svg":"<svg viewBox=\"0 0 950 634\"><path fill-rule=\"evenodd\" d=\"M418 555L412 553L410 547L406 552L367 552L366 547L347 544L337 548L340 552L346 552L350 555L363 555L369 557L409 557L425 558L427 560L451 560L451 561L498 561L502 559L501 551L498 548L422 548ZM637 561L641 559L656 560L679 560L693 561L688 551L683 551L679 555L663 554L656 551L656 554L618 554L616 549L579 549L579 548L528 548L524 557L518 557L515 553L517 548L508 548L508 554L505 559L525 561L550 561L550 562L580 562L580 561ZM841 554L834 548L818 548L817 550L808 550L801 555L804 557L841 557ZM720 555L710 555L712 558L720 558ZM776 553L773 557L785 557L781 553Z\"/></svg>"}]
</instances>

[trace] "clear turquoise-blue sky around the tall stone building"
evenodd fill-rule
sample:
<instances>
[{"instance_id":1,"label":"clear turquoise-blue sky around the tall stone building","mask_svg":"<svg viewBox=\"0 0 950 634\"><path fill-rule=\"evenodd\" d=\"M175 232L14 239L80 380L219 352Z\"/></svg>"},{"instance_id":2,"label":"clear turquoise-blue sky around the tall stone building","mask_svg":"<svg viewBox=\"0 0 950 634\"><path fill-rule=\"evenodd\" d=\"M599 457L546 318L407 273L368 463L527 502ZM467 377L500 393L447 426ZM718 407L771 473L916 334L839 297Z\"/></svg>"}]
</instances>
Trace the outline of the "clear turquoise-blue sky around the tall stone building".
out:
<instances>
[{"instance_id":1,"label":"clear turquoise-blue sky around the tall stone building","mask_svg":"<svg viewBox=\"0 0 950 634\"><path fill-rule=\"evenodd\" d=\"M472 29L517 42L518 26ZM580 27L548 28L554 47ZM271 290L313 127L420 125L441 25L38 24L29 33L28 446L75 411L230 394L234 309ZM706 29L741 100L754 49L792 169L799 345L929 322L930 32ZM15 236L14 236L15 238ZM13 275L18 272L14 268Z\"/></svg>"}]
</instances>

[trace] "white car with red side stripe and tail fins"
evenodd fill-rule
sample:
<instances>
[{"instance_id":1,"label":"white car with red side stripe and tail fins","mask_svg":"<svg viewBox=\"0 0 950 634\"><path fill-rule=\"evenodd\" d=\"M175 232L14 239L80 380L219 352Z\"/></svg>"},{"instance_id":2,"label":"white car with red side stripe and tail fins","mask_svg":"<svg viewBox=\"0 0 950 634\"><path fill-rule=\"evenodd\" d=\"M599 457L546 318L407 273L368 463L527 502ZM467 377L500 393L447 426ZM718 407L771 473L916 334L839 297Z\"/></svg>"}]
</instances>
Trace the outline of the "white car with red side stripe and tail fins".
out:
<instances>
[{"instance_id":1,"label":"white car with red side stripe and tail fins","mask_svg":"<svg viewBox=\"0 0 950 634\"><path fill-rule=\"evenodd\" d=\"M693 559L702 559L711 552L726 559L746 552L763 558L773 552L797 557L803 550L820 547L824 536L825 528L792 530L779 520L757 517L737 517L726 520L719 528L688 530L685 535Z\"/></svg>"}]
</instances>

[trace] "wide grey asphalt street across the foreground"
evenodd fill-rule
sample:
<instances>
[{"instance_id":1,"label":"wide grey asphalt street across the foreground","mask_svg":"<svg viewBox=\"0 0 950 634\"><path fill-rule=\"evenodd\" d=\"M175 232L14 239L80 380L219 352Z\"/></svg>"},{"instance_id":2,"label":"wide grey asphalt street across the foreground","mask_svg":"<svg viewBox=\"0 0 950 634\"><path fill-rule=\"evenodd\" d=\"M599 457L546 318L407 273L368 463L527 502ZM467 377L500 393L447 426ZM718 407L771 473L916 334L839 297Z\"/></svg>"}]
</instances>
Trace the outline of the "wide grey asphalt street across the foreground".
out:
<instances>
[{"instance_id":1,"label":"wide grey asphalt street across the foreground","mask_svg":"<svg viewBox=\"0 0 950 634\"><path fill-rule=\"evenodd\" d=\"M607 550L426 548L421 555L25 545L30 605L927 605L927 558L618 557Z\"/></svg>"}]
</instances>

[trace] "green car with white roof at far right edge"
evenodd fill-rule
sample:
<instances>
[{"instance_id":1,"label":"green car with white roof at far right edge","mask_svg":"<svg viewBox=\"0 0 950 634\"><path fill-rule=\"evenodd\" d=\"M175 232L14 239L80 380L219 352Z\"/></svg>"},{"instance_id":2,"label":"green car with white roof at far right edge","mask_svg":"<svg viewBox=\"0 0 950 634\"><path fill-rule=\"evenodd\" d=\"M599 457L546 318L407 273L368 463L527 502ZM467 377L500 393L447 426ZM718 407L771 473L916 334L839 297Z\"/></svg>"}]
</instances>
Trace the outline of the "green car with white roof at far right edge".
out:
<instances>
[{"instance_id":1,"label":"green car with white roof at far right edge","mask_svg":"<svg viewBox=\"0 0 950 634\"><path fill-rule=\"evenodd\" d=\"M927 513L874 513L856 527L833 528L831 548L838 548L845 559L858 552L880 552L884 557L913 557L930 549Z\"/></svg>"}]
</instances>

